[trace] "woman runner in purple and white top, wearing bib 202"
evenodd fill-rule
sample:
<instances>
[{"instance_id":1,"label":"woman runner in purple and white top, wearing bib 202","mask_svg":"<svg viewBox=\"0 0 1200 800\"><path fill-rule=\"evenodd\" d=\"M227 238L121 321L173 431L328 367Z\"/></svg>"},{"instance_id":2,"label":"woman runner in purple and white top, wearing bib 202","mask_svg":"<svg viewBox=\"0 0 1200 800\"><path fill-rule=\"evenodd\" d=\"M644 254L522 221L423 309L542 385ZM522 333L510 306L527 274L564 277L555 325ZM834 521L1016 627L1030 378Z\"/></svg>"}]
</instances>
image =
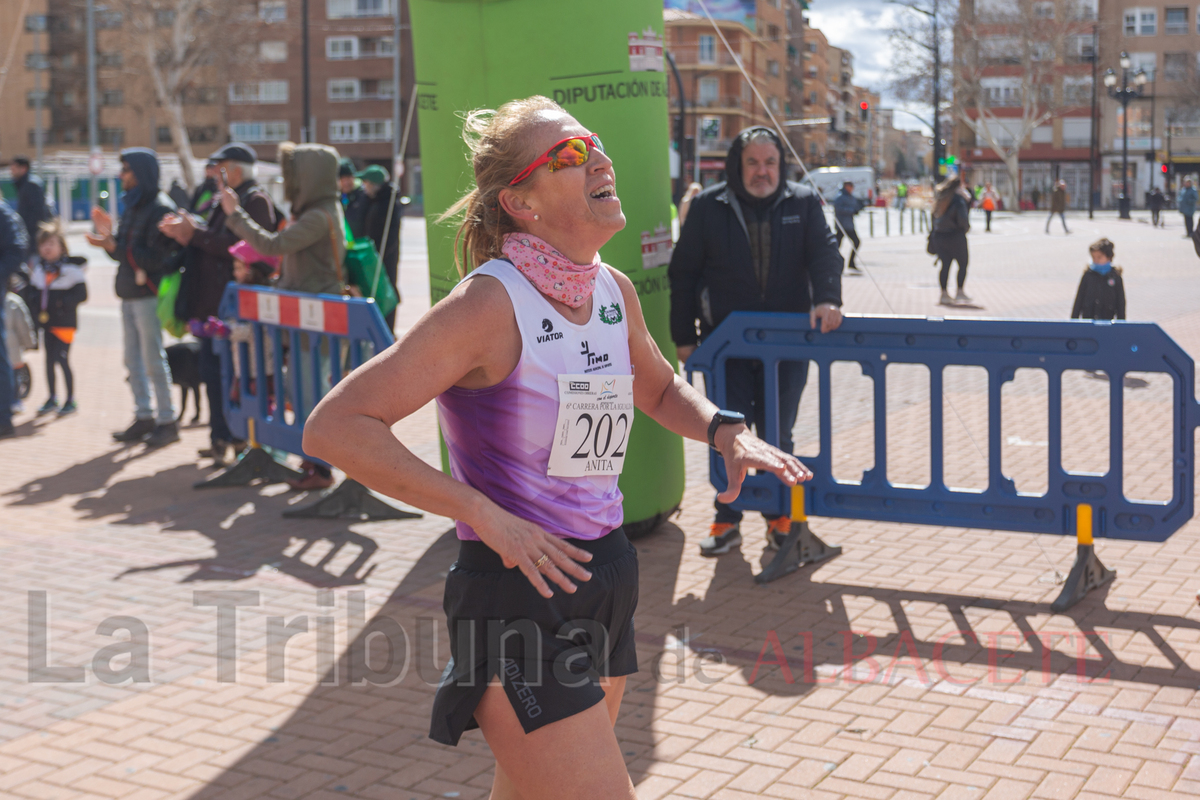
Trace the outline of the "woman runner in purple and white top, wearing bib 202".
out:
<instances>
[{"instance_id":1,"label":"woman runner in purple and white top, wearing bib 202","mask_svg":"<svg viewBox=\"0 0 1200 800\"><path fill-rule=\"evenodd\" d=\"M496 756L492 798L634 800L613 732L637 672L623 456L602 438L564 441L559 420L590 420L578 410L588 408L599 425L613 422L616 410L596 410L612 403L629 409L613 422L618 450L634 407L707 439L725 458L721 497L731 503L749 469L785 486L810 474L744 425L722 423L662 357L632 282L600 261L625 227L600 137L545 97L468 114L466 127L475 188L449 213L464 212L456 260L474 271L325 396L304 446L376 491L457 521L444 601L451 655L430 736L457 745L481 728ZM433 399L451 475L391 432ZM572 458L583 447L607 462L605 474ZM503 631L488 620L503 620Z\"/></svg>"}]
</instances>

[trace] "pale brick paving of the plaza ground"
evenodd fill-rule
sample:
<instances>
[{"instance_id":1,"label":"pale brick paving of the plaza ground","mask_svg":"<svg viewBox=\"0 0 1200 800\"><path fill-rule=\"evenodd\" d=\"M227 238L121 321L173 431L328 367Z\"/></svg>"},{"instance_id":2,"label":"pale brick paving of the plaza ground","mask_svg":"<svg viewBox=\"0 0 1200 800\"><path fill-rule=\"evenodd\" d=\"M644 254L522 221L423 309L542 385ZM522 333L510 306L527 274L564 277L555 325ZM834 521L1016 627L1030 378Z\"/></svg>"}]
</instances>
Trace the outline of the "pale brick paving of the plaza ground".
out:
<instances>
[{"instance_id":1,"label":"pale brick paving of the plaza ground","mask_svg":"<svg viewBox=\"0 0 1200 800\"><path fill-rule=\"evenodd\" d=\"M1087 243L1108 235L1130 319L1200 353L1200 259L1178 215L1166 219L1076 215L1073 235L1046 236L1040 213L997 215L996 233L971 234L967 291L984 308L962 313L1066 317ZM404 223L402 327L428 306L424 225ZM865 239L862 260L870 276L846 277L847 311L941 313L922 236ZM486 798L479 732L457 748L425 736L446 657L451 522L286 521L311 498L196 491L202 427L160 451L114 445L131 401L109 264L94 261L72 353L80 411L26 411L0 443L0 796ZM929 474L914 369L889 389L898 482ZM871 467L865 380L834 374L839 477ZM1018 375L1003 396L1002 458L1021 491L1045 481L1042 385ZM946 391L947 481L979 487L985 380L947 374ZM1124 391L1127 493L1166 499L1170 385L1150 374ZM1066 467L1103 471L1106 383L1070 377L1064 396ZM802 455L811 419L805 402ZM437 462L432 407L396 433ZM1061 536L817 518L844 554L757 587L761 521L740 553L698 555L712 489L704 446L686 452L682 513L637 542L642 672L618 736L642 800L1200 794L1200 523L1164 545L1099 540L1117 578L1062 615L1049 603L1075 542ZM235 637L218 637L218 618ZM407 643L391 685L362 680L383 663L379 646L364 656L380 642L368 622Z\"/></svg>"}]
</instances>

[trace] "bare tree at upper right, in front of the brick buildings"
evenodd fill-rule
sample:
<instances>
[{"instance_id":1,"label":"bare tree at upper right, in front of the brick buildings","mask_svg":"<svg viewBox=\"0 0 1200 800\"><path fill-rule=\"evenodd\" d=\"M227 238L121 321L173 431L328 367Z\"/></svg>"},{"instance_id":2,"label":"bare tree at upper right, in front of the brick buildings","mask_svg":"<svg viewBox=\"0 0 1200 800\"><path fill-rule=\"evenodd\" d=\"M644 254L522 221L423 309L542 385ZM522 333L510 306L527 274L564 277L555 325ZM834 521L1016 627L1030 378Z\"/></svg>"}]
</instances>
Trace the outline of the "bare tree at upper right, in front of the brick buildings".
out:
<instances>
[{"instance_id":1,"label":"bare tree at upper right, in front of the brick buildings","mask_svg":"<svg viewBox=\"0 0 1200 800\"><path fill-rule=\"evenodd\" d=\"M1086 0L961 2L954 115L1004 163L1014 193L1020 151L1033 131L1066 108L1085 104L1064 65L1084 59L1092 8ZM1009 200L1010 207L1019 207L1012 203L1015 198Z\"/></svg>"}]
</instances>

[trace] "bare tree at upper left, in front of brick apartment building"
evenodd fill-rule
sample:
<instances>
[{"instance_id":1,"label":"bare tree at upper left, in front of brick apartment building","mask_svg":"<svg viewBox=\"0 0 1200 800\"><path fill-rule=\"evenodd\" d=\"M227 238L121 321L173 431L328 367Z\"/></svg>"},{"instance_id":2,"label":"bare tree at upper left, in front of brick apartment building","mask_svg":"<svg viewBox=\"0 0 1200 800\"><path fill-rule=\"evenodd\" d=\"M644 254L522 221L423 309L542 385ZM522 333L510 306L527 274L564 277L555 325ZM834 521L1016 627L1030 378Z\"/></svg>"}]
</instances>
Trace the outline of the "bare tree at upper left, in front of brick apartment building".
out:
<instances>
[{"instance_id":1,"label":"bare tree at upper left, in front of brick apartment building","mask_svg":"<svg viewBox=\"0 0 1200 800\"><path fill-rule=\"evenodd\" d=\"M127 22L131 66L144 70L154 100L167 115L172 143L188 191L194 188L191 136L184 106L206 76L223 85L234 65L253 68L246 58L258 34L256 4L246 0L118 0ZM109 7L114 7L110 0Z\"/></svg>"}]
</instances>

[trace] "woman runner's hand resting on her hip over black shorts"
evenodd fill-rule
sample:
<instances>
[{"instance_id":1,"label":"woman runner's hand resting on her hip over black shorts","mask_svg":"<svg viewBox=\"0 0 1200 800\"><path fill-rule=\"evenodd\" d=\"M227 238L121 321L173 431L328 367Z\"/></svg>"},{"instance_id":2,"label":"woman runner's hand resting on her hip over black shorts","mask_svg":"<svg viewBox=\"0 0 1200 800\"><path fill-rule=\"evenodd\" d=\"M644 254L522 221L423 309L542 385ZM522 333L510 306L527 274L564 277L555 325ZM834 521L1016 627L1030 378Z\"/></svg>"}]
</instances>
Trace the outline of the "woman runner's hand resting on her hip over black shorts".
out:
<instances>
[{"instance_id":1,"label":"woman runner's hand resting on her hip over black shorts","mask_svg":"<svg viewBox=\"0 0 1200 800\"><path fill-rule=\"evenodd\" d=\"M590 553L503 509L497 507L485 523L472 527L480 540L499 554L504 566L521 570L542 597L554 596L547 579L568 594L575 594L572 577L592 579L592 573L580 564L590 561Z\"/></svg>"}]
</instances>

